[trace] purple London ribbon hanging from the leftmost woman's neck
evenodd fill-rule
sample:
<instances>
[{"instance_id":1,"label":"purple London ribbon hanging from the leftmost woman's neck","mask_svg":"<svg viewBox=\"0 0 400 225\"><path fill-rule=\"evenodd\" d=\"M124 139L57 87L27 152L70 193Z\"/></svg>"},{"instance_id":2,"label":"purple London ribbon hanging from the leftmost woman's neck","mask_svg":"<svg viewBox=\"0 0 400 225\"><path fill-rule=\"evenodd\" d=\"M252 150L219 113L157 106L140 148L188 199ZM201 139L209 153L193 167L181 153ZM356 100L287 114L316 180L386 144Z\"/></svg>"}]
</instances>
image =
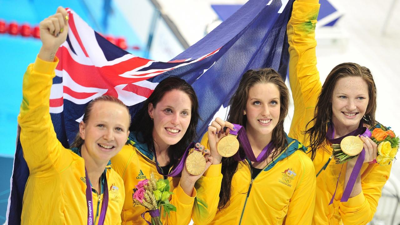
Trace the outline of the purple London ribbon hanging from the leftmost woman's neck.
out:
<instances>
[{"instance_id":1,"label":"purple London ribbon hanging from the leftmost woman's neck","mask_svg":"<svg viewBox=\"0 0 400 225\"><path fill-rule=\"evenodd\" d=\"M86 175L86 204L88 206L88 225L94 224L93 217L93 197L92 197L92 186L90 186L88 171L85 168ZM104 219L106 218L106 212L108 207L108 185L107 185L107 176L104 175L104 187L103 187L103 203L101 204L101 211L98 220L98 225L104 224ZM99 199L100 201L100 199Z\"/></svg>"}]
</instances>

